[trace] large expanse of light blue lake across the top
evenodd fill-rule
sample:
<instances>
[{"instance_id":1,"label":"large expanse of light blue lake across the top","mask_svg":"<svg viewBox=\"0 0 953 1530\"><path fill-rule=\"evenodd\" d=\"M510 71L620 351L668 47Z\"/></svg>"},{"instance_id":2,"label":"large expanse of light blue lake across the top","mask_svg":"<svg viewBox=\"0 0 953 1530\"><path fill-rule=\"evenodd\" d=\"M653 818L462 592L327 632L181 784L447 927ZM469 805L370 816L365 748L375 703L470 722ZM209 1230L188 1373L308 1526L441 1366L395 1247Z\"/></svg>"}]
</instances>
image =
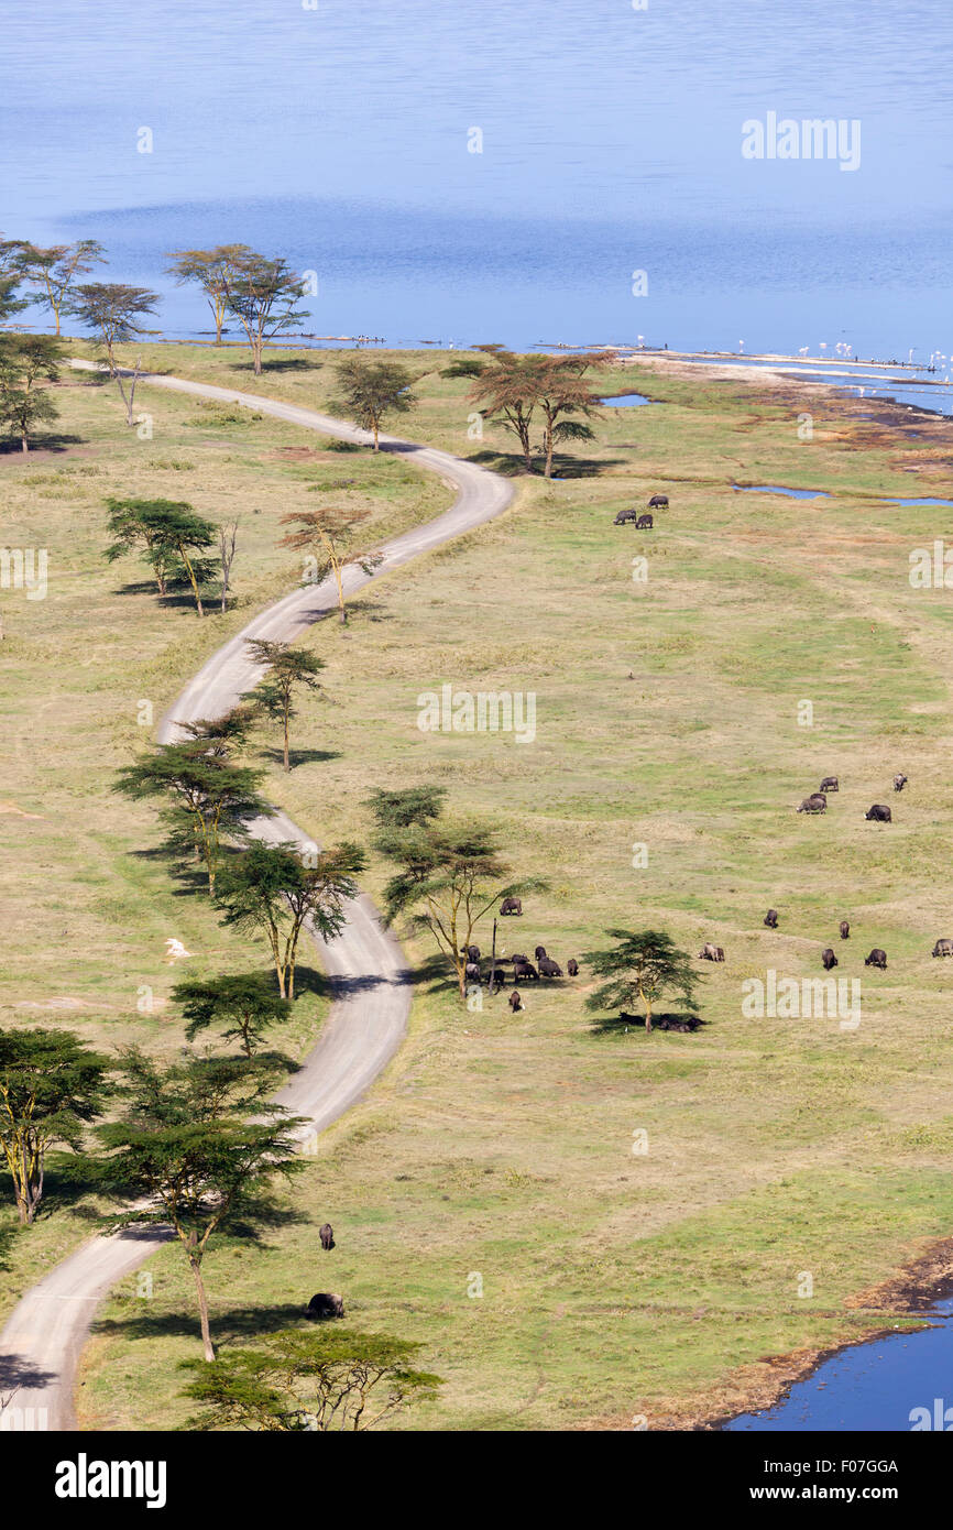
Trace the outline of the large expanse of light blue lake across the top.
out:
<instances>
[{"instance_id":1,"label":"large expanse of light blue lake across the top","mask_svg":"<svg viewBox=\"0 0 953 1530\"><path fill-rule=\"evenodd\" d=\"M260 11L63 0L54 44L6 0L5 234L101 239L170 337L208 314L168 251L245 242L315 272L318 335L948 367L948 0L698 5L690 46L655 0ZM860 162L743 158L768 112Z\"/></svg>"}]
</instances>

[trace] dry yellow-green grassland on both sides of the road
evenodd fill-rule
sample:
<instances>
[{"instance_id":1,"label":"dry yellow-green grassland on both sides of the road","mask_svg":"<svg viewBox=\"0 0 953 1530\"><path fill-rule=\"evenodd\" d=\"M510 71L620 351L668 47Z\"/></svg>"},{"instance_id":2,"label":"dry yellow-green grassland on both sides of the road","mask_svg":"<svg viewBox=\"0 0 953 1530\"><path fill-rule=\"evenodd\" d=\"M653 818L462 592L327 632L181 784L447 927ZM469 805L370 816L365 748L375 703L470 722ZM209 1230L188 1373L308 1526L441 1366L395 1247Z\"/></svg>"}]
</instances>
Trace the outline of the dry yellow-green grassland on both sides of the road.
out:
<instances>
[{"instance_id":1,"label":"dry yellow-green grassland on both sides of the road","mask_svg":"<svg viewBox=\"0 0 953 1530\"><path fill-rule=\"evenodd\" d=\"M320 370L292 364L254 382L239 352L156 347L156 356L177 375L295 402L333 398L329 358ZM419 405L398 428L516 471L503 436L467 439L473 405L465 382L439 376L447 358L408 360ZM330 623L315 629L330 707L304 708L298 742L333 757L269 782L315 837L364 840L370 786L445 785L454 809L493 822L520 875L549 880L517 929L505 927L520 949L542 939L564 962L623 924L661 926L690 950L704 939L727 950L725 965L705 972L710 1025L698 1036L594 1034L584 970L534 988L519 1017L505 998L462 1011L447 985L422 978L407 1043L298 1184L303 1219L266 1248L210 1256L213 1323L226 1343L288 1322L321 1288L344 1293L355 1327L421 1339L447 1385L410 1426L629 1427L644 1415L659 1427L730 1411L769 1395L800 1363L769 1357L809 1356L903 1322L854 1305L857 1294L950 1235L953 973L930 958L933 939L953 933L950 612L944 591L907 580L909 551L944 534L945 513L883 503L950 496L947 427L915 416L904 425L901 412L889 425L855 419L851 405L794 386L606 372L606 392L630 389L659 407L607 410L586 461L558 468L563 480L520 479L500 520L376 584L347 635ZM164 396L161 407L179 422L194 413ZM805 410L811 442L797 436ZM249 431L271 441L281 427L229 427L214 451L242 456L249 448L236 442ZM113 454L118 436L99 456L125 482L135 448ZM291 427L280 435L292 439ZM272 499L311 470L263 457L245 476L228 467L271 517L274 546ZM340 461L349 476L366 462L384 471L364 454ZM733 482L832 497L740 494ZM237 490L217 503L231 505ZM672 499L655 531L612 525L618 508L655 490ZM73 505L80 525L86 516L90 569L98 497L90 491L84 511ZM191 488L188 497L200 500ZM396 519L407 513L392 506ZM24 526L23 542L34 534ZM636 555L649 560L646 584L632 578ZM281 577L277 557L242 594L265 600ZM214 638L197 623L185 632L177 614L170 638L168 612L113 588L106 575L98 600L110 646L93 672L102 690L76 672L69 698L50 708L60 753L43 789L17 799L55 825L43 846L58 874L43 875L32 851L17 854L5 861L5 900L23 910L64 900L70 932L92 942L75 962L72 936L66 953L50 939L55 923L43 915L37 939L15 920L31 998L37 982L47 1002L64 991L113 996L116 1036L151 1030L150 1045L168 1048L179 1040L168 1017L130 1016L138 982L151 973L158 991L168 984L161 936L179 933L222 965L240 953L205 909L174 898L161 868L130 854L154 840L154 823L116 811L106 771L135 744L130 698L154 693L158 716L161 696L240 614ZM89 600L76 578L76 630L89 620L84 589ZM124 620L130 603L142 627ZM44 626L54 615L52 601L31 614L21 696L47 684L41 656L64 678L64 640L57 646ZM534 692L535 742L421 733L418 695L447 682ZM805 699L811 727L799 725ZM93 742L98 708L106 721ZM899 799L896 770L910 776ZM828 773L841 791L826 817L797 815ZM90 829L90 782L104 783L93 803L102 822L81 848L64 845L70 819L81 814ZM892 802L893 825L864 822L875 800ZM24 845L18 820L15 835ZM632 864L636 843L649 849L644 869ZM372 866L372 894L384 875ZM95 886L101 877L106 886ZM76 887L92 892L83 927ZM110 913L96 912L101 898ZM777 933L762 926L769 904L780 910ZM843 916L852 938L841 947ZM135 982L116 976L116 930L135 947L118 958ZM861 979L858 1030L742 1016L745 978L768 967L815 976L826 944L838 947L838 975ZM886 973L863 967L873 944L889 953ZM408 950L424 968L430 950ZM6 994L17 1002L26 985ZM106 1024L101 1004L89 1024ZM646 1155L632 1151L638 1129L649 1134ZM338 1238L330 1256L317 1239L326 1218ZM37 1232L54 1236L57 1221ZM151 1268L153 1299L136 1299L132 1282L115 1291L87 1349L80 1414L89 1427L161 1429L185 1417L176 1365L196 1346L188 1279L174 1250ZM811 1299L797 1294L803 1271ZM474 1274L482 1297L468 1294Z\"/></svg>"}]
</instances>

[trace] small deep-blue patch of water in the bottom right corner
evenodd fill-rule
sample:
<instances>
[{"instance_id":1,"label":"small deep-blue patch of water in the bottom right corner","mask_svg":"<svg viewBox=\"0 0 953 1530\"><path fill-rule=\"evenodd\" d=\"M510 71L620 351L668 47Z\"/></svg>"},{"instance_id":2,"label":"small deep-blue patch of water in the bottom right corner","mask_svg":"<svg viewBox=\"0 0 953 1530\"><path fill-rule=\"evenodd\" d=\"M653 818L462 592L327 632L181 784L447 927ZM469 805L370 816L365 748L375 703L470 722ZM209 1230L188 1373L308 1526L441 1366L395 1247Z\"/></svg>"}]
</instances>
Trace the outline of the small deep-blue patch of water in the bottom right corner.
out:
<instances>
[{"instance_id":1,"label":"small deep-blue patch of water in the bottom right corner","mask_svg":"<svg viewBox=\"0 0 953 1530\"><path fill-rule=\"evenodd\" d=\"M953 1299L929 1313L936 1327L855 1345L825 1360L774 1408L742 1414L728 1431L953 1429ZM936 1408L936 1400L941 1408ZM925 1409L924 1414L915 1409ZM913 1418L910 1415L915 1415Z\"/></svg>"}]
</instances>

